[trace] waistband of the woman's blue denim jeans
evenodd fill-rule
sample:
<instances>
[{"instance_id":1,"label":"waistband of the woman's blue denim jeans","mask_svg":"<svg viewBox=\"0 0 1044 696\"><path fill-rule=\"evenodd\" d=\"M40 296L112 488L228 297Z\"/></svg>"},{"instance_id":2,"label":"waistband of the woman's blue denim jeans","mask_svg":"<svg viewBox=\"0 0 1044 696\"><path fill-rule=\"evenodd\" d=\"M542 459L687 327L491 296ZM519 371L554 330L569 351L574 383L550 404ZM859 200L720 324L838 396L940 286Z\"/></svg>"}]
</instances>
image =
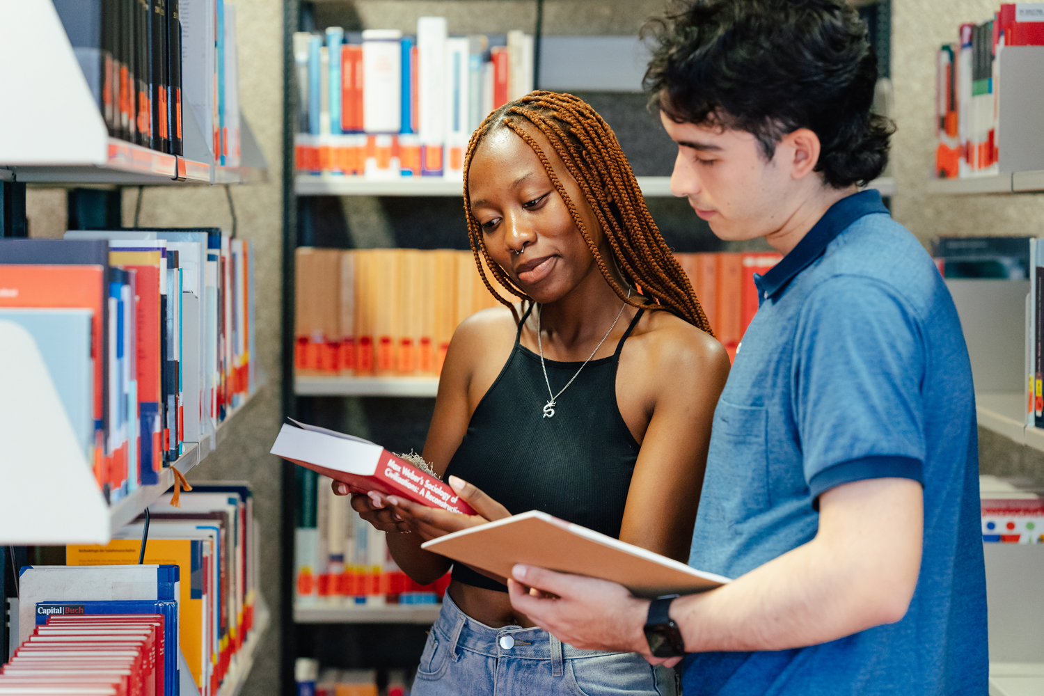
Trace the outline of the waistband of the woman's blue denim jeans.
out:
<instances>
[{"instance_id":1,"label":"waistband of the woman's blue denim jeans","mask_svg":"<svg viewBox=\"0 0 1044 696\"><path fill-rule=\"evenodd\" d=\"M472 619L453 603L449 593L443 597L443 609L432 626L440 640L450 641L454 659L460 650L470 650L490 657L516 659L549 659L553 671L561 668L563 659L577 659L597 655L619 654L600 650L579 650L548 633L543 628L504 626L493 628Z\"/></svg>"}]
</instances>

